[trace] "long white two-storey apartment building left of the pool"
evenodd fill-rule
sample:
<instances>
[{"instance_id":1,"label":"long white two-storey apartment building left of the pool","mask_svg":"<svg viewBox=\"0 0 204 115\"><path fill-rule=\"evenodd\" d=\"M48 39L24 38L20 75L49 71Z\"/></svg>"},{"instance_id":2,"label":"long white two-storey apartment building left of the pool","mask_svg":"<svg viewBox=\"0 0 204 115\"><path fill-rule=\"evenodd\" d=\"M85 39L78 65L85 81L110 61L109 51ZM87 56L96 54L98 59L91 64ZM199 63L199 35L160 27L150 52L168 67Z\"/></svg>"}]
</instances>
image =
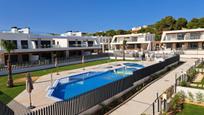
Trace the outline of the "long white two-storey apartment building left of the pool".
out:
<instances>
[{"instance_id":1,"label":"long white two-storey apartment building left of the pool","mask_svg":"<svg viewBox=\"0 0 204 115\"><path fill-rule=\"evenodd\" d=\"M13 64L54 61L54 57L66 59L101 52L98 37L91 36L36 35L30 30L12 28L11 32L0 32L0 40L11 40L16 45L11 55ZM7 58L7 52L0 47L0 64L6 64Z\"/></svg>"}]
</instances>

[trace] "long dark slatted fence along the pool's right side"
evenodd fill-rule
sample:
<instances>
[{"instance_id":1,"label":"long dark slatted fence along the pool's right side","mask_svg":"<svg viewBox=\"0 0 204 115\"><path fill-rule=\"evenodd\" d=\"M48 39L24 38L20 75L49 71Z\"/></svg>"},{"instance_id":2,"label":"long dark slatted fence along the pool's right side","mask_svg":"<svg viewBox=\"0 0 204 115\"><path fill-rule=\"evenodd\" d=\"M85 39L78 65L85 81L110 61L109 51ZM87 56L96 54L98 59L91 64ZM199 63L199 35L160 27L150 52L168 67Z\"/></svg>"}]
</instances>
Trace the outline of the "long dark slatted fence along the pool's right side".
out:
<instances>
[{"instance_id":1,"label":"long dark slatted fence along the pool's right side","mask_svg":"<svg viewBox=\"0 0 204 115\"><path fill-rule=\"evenodd\" d=\"M69 100L57 102L53 105L27 113L27 115L76 115L90 109L91 107L111 98L112 96L130 88L133 83L149 77L170 64L178 62L179 55L170 57L163 62L139 69L133 75L96 88L89 92L75 96Z\"/></svg>"}]
</instances>

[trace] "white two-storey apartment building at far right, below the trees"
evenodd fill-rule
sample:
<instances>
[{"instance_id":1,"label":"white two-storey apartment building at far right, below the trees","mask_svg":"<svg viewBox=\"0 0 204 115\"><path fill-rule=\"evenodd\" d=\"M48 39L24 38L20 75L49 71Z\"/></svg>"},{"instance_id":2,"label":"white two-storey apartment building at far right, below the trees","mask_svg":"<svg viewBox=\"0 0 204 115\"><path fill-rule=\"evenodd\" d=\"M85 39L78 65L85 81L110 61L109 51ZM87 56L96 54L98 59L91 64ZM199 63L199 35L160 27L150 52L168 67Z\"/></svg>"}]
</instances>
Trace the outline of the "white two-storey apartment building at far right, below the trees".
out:
<instances>
[{"instance_id":1,"label":"white two-storey apartment building at far right, below the trees","mask_svg":"<svg viewBox=\"0 0 204 115\"><path fill-rule=\"evenodd\" d=\"M164 31L161 43L171 50L203 50L204 28Z\"/></svg>"}]
</instances>

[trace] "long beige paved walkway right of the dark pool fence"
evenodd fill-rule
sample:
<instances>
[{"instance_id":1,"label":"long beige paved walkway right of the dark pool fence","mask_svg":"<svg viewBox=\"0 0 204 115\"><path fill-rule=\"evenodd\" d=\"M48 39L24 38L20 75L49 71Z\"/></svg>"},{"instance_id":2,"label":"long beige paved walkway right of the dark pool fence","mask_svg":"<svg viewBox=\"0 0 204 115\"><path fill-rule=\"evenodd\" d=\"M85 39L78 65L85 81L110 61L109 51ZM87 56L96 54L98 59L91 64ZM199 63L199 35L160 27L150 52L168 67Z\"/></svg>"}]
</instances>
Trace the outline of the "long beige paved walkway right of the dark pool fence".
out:
<instances>
[{"instance_id":1,"label":"long beige paved walkway right of the dark pool fence","mask_svg":"<svg viewBox=\"0 0 204 115\"><path fill-rule=\"evenodd\" d=\"M182 59L186 63L174 69L158 81L145 88L124 105L117 108L111 115L141 115L156 99L156 93L162 94L168 87L175 83L175 74L186 71L195 62L195 59Z\"/></svg>"}]
</instances>

